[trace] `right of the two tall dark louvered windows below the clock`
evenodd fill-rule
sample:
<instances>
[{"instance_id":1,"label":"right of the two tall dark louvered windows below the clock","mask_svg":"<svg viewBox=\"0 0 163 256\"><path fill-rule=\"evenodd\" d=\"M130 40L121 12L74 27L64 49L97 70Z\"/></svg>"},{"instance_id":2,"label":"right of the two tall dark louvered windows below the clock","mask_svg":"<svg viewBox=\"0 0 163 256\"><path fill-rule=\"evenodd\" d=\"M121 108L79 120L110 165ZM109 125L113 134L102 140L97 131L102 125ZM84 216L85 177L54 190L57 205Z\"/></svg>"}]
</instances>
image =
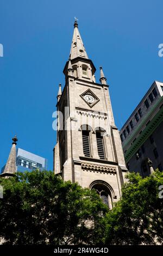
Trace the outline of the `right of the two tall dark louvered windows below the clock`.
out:
<instances>
[{"instance_id":1,"label":"right of the two tall dark louvered windows below the clock","mask_svg":"<svg viewBox=\"0 0 163 256\"><path fill-rule=\"evenodd\" d=\"M96 131L96 141L97 141L97 150L98 156L100 159L105 159L105 150L104 150L104 131L99 128Z\"/></svg>"}]
</instances>

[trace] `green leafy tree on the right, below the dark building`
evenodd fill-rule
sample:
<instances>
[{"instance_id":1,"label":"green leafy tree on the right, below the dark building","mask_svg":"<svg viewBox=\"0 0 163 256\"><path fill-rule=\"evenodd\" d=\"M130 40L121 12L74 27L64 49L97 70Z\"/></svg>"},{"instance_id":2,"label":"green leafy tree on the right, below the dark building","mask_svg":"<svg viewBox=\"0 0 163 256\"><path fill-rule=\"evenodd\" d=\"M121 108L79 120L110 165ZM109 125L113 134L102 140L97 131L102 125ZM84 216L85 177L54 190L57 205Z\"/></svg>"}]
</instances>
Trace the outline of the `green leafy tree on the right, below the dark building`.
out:
<instances>
[{"instance_id":1,"label":"green leafy tree on the right, below the dark building","mask_svg":"<svg viewBox=\"0 0 163 256\"><path fill-rule=\"evenodd\" d=\"M146 178L129 173L127 178L121 201L106 214L104 243L163 244L163 173L156 170Z\"/></svg>"}]
</instances>

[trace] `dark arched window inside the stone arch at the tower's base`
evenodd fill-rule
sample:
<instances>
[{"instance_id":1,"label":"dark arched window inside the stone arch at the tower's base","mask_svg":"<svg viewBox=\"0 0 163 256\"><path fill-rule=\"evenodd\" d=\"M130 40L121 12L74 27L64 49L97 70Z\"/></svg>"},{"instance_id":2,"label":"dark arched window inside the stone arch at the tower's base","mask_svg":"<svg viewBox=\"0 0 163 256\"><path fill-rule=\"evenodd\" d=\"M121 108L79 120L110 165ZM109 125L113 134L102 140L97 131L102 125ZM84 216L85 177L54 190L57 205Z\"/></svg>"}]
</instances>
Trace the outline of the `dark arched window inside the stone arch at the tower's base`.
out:
<instances>
[{"instance_id":1,"label":"dark arched window inside the stone arch at the tower's base","mask_svg":"<svg viewBox=\"0 0 163 256\"><path fill-rule=\"evenodd\" d=\"M91 189L95 189L96 192L99 194L101 197L102 201L104 204L108 206L109 209L112 209L112 196L111 196L111 191L108 186L105 185L105 182L100 182L93 184Z\"/></svg>"}]
</instances>

